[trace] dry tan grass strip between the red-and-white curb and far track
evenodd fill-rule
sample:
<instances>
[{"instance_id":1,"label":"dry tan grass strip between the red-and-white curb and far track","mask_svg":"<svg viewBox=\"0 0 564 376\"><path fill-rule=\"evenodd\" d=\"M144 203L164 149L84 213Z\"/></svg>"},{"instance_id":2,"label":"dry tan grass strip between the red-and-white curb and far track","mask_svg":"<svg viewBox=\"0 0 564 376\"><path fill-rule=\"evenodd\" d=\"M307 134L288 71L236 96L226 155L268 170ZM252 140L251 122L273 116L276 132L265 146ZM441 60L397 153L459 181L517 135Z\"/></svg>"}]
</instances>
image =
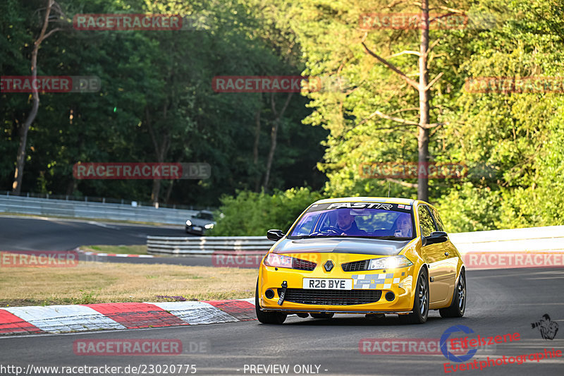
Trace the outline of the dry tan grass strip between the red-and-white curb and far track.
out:
<instances>
[{"instance_id":1,"label":"dry tan grass strip between the red-and-white curb and far track","mask_svg":"<svg viewBox=\"0 0 564 376\"><path fill-rule=\"evenodd\" d=\"M250 298L256 283L257 270L227 267L110 262L5 267L0 307Z\"/></svg>"}]
</instances>

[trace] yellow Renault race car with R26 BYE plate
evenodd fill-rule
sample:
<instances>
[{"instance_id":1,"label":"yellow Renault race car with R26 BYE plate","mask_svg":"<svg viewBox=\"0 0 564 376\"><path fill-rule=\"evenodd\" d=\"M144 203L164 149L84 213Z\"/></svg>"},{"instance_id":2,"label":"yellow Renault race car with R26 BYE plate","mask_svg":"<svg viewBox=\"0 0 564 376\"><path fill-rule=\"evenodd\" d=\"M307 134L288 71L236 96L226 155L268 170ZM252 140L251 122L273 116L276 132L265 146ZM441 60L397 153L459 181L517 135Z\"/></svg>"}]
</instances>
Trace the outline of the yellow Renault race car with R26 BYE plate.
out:
<instances>
[{"instance_id":1,"label":"yellow Renault race car with R26 BYE plate","mask_svg":"<svg viewBox=\"0 0 564 376\"><path fill-rule=\"evenodd\" d=\"M257 319L281 324L287 315L335 313L405 323L427 321L429 310L462 317L465 266L439 212L403 198L332 198L310 205L262 259L255 294Z\"/></svg>"}]
</instances>

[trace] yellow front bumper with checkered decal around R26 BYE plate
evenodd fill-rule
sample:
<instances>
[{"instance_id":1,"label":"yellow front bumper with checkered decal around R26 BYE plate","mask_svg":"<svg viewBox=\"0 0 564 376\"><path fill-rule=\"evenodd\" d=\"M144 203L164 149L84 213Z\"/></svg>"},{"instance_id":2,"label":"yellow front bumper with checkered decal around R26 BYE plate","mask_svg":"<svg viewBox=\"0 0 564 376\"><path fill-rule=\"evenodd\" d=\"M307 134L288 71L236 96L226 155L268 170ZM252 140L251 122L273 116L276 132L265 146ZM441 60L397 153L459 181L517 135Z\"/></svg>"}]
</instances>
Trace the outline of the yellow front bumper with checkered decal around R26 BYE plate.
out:
<instances>
[{"instance_id":1,"label":"yellow front bumper with checkered decal around R26 BYE plate","mask_svg":"<svg viewBox=\"0 0 564 376\"><path fill-rule=\"evenodd\" d=\"M259 269L259 305L264 311L309 312L309 313L408 313L413 308L413 274L417 272L415 265L399 269L368 270L344 272L344 262L366 260L378 256L352 255L336 253L293 254L305 260L315 260L317 267L312 271L274 268L261 264ZM341 259L341 260L340 260ZM323 265L327 260L333 261L335 267L326 272ZM317 290L302 289L304 278L352 279L352 290ZM285 300L278 305L280 298L278 289L283 281L288 284ZM272 298L266 298L266 290L274 291ZM374 292L381 291L379 298ZM388 300L386 294L393 293ZM388 294L388 298L390 294ZM369 301L369 303L359 303Z\"/></svg>"}]
</instances>

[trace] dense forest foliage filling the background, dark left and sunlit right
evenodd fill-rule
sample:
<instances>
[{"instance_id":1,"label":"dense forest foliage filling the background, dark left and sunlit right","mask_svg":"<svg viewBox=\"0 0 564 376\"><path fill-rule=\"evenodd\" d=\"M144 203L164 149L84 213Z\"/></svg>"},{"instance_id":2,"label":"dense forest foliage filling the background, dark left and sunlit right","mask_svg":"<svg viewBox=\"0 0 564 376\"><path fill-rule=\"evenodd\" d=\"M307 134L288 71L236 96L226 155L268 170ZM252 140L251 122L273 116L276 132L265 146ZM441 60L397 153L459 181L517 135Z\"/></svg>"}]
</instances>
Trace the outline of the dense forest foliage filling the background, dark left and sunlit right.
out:
<instances>
[{"instance_id":1,"label":"dense forest foliage filling the background, dark left and sunlit right","mask_svg":"<svg viewBox=\"0 0 564 376\"><path fill-rule=\"evenodd\" d=\"M29 75L47 0L0 3L1 75ZM417 162L417 91L362 42L417 76L419 30L364 30L363 15L417 13L407 1L58 0L63 30L39 49L39 75L97 75L96 93L41 95L27 140L23 192L219 206L214 235L288 229L313 200L417 198L417 178L369 178L362 164ZM471 171L429 179L448 231L564 224L564 4L554 0L434 0L480 17L431 28L430 162ZM78 13L178 13L198 30L80 31ZM218 75L305 75L322 89L219 93ZM472 92L468 80L558 78L560 90ZM557 80L557 81L558 81ZM1 93L0 186L13 181L30 95ZM377 115L376 115L377 114ZM385 116L380 116L386 114ZM386 117L387 116L387 117ZM405 123L398 123L403 119ZM278 121L278 123L276 123ZM276 132L271 168L267 160ZM206 162L202 181L90 180L77 162ZM269 178L265 182L265 175Z\"/></svg>"}]
</instances>

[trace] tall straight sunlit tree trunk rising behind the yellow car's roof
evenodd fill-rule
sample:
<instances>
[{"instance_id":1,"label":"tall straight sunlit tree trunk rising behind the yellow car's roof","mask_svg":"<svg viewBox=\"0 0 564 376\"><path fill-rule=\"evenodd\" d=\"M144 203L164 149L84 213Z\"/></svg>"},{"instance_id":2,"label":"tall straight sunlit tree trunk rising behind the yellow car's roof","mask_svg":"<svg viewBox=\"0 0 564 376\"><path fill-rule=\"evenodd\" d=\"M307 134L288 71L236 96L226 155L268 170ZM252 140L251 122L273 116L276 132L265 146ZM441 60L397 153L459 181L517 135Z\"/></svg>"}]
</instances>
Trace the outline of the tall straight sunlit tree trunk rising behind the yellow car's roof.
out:
<instances>
[{"instance_id":1,"label":"tall straight sunlit tree trunk rising behind the yellow car's roof","mask_svg":"<svg viewBox=\"0 0 564 376\"><path fill-rule=\"evenodd\" d=\"M427 177L429 162L429 73L427 71L427 54L429 49L429 0L422 0L421 45L419 49L419 132L417 135L417 198L429 201L429 178ZM425 171L422 176L422 171Z\"/></svg>"}]
</instances>

